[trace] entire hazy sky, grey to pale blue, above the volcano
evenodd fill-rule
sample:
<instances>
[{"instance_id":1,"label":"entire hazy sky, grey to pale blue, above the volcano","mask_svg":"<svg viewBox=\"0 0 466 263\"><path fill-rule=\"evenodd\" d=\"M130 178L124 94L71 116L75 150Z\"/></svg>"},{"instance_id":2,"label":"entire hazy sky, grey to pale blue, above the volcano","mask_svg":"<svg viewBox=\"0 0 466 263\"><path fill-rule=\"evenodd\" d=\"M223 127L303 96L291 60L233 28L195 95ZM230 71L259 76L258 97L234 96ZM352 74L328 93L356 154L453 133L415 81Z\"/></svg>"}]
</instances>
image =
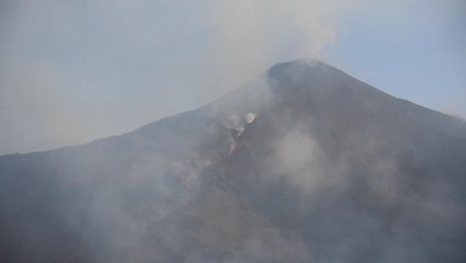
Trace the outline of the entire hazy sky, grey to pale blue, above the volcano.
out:
<instances>
[{"instance_id":1,"label":"entire hazy sky, grey to pale blue, above the volcano","mask_svg":"<svg viewBox=\"0 0 466 263\"><path fill-rule=\"evenodd\" d=\"M466 117L464 0L0 0L0 155L118 135L320 58Z\"/></svg>"}]
</instances>

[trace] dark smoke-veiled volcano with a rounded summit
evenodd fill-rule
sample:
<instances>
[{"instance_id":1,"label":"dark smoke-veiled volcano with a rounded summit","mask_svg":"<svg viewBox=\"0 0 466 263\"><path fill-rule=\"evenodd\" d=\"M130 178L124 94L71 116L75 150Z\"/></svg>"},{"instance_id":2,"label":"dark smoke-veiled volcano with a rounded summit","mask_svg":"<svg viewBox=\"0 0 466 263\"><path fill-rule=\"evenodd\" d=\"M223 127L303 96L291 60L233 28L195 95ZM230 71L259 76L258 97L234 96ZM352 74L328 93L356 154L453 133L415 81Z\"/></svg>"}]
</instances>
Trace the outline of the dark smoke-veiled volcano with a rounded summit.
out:
<instances>
[{"instance_id":1,"label":"dark smoke-veiled volcano with a rounded summit","mask_svg":"<svg viewBox=\"0 0 466 263\"><path fill-rule=\"evenodd\" d=\"M465 221L466 123L317 60L0 157L1 262L459 263Z\"/></svg>"}]
</instances>

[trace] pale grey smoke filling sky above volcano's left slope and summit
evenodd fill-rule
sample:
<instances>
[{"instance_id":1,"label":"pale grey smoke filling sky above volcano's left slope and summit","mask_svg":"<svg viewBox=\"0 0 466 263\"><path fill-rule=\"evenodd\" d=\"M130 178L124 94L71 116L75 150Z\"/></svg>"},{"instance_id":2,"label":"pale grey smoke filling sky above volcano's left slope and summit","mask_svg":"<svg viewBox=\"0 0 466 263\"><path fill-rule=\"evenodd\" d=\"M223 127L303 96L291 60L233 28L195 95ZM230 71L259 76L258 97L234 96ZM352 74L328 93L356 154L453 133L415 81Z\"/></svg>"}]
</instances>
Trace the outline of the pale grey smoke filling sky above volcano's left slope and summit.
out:
<instances>
[{"instance_id":1,"label":"pale grey smoke filling sky above volcano's left slope and summit","mask_svg":"<svg viewBox=\"0 0 466 263\"><path fill-rule=\"evenodd\" d=\"M2 1L0 155L128 132L319 56L345 5Z\"/></svg>"}]
</instances>

